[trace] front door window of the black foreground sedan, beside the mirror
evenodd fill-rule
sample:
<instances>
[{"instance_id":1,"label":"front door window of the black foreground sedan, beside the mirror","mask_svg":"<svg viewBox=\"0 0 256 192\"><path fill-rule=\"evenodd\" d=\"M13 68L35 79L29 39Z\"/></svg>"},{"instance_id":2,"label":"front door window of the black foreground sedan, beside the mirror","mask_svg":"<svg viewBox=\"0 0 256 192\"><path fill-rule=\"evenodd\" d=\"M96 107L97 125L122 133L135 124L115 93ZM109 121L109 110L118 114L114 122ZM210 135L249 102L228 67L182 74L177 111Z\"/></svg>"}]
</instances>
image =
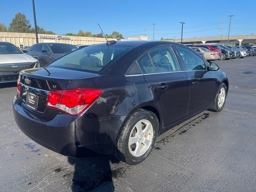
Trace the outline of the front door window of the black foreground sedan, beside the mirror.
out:
<instances>
[{"instance_id":1,"label":"front door window of the black foreground sedan, beside the mirror","mask_svg":"<svg viewBox=\"0 0 256 192\"><path fill-rule=\"evenodd\" d=\"M181 46L176 46L176 49L186 66L186 70L192 71L206 69L204 60L194 52Z\"/></svg>"}]
</instances>

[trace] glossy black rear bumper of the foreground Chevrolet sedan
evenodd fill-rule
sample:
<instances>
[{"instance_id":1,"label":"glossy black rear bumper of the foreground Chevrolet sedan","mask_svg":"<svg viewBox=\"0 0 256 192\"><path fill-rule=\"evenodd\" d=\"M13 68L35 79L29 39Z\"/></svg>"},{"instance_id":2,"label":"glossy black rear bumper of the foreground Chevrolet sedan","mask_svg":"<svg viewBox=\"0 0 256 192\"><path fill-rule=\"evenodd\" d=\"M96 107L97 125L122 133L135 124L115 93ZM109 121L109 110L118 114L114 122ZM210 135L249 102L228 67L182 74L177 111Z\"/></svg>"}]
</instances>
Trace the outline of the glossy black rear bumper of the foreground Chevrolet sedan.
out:
<instances>
[{"instance_id":1,"label":"glossy black rear bumper of the foreground Chevrolet sedan","mask_svg":"<svg viewBox=\"0 0 256 192\"><path fill-rule=\"evenodd\" d=\"M70 157L110 155L127 116L86 118L57 114L46 121L13 100L14 119L20 130L38 144Z\"/></svg>"}]
</instances>

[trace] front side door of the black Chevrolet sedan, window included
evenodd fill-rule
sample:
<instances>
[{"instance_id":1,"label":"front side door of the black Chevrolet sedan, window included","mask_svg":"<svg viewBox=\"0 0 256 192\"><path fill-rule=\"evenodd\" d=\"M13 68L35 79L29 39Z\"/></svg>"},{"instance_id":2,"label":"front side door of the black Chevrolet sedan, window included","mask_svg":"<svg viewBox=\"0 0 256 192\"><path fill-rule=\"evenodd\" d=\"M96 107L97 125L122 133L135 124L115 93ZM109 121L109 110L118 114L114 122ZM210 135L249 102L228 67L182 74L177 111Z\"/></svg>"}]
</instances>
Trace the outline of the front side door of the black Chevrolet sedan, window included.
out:
<instances>
[{"instance_id":1,"label":"front side door of the black Chevrolet sedan, window included","mask_svg":"<svg viewBox=\"0 0 256 192\"><path fill-rule=\"evenodd\" d=\"M214 98L215 78L207 62L186 47L175 46L190 79L188 116L211 106Z\"/></svg>"}]
</instances>

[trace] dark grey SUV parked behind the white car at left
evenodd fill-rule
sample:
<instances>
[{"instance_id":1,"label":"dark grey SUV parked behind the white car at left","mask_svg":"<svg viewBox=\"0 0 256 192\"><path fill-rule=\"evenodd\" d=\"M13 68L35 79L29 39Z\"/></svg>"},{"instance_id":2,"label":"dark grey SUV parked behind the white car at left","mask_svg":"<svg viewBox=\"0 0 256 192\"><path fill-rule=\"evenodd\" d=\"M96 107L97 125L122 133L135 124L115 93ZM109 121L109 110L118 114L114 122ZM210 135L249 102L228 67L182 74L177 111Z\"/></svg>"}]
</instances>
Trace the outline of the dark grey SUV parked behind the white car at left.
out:
<instances>
[{"instance_id":1,"label":"dark grey SUV parked behind the white car at left","mask_svg":"<svg viewBox=\"0 0 256 192\"><path fill-rule=\"evenodd\" d=\"M58 58L77 50L78 48L71 44L64 43L37 43L28 50L28 55L39 61L39 66L46 66ZM24 51L23 51L24 52ZM26 51L25 51L26 52Z\"/></svg>"}]
</instances>

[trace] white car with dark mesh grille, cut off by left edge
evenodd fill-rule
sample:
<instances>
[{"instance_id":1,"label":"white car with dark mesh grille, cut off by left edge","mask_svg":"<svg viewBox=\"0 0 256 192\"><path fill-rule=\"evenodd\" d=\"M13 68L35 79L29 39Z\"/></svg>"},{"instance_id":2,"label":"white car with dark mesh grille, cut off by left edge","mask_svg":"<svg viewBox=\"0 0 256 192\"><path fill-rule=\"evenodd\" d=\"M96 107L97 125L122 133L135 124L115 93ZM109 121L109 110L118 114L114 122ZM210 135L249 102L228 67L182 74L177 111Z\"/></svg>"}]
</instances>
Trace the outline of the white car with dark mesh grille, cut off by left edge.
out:
<instances>
[{"instance_id":1,"label":"white car with dark mesh grille, cut off by left edge","mask_svg":"<svg viewBox=\"0 0 256 192\"><path fill-rule=\"evenodd\" d=\"M38 60L24 54L14 44L0 42L0 83L15 82L21 70L37 65Z\"/></svg>"}]
</instances>

